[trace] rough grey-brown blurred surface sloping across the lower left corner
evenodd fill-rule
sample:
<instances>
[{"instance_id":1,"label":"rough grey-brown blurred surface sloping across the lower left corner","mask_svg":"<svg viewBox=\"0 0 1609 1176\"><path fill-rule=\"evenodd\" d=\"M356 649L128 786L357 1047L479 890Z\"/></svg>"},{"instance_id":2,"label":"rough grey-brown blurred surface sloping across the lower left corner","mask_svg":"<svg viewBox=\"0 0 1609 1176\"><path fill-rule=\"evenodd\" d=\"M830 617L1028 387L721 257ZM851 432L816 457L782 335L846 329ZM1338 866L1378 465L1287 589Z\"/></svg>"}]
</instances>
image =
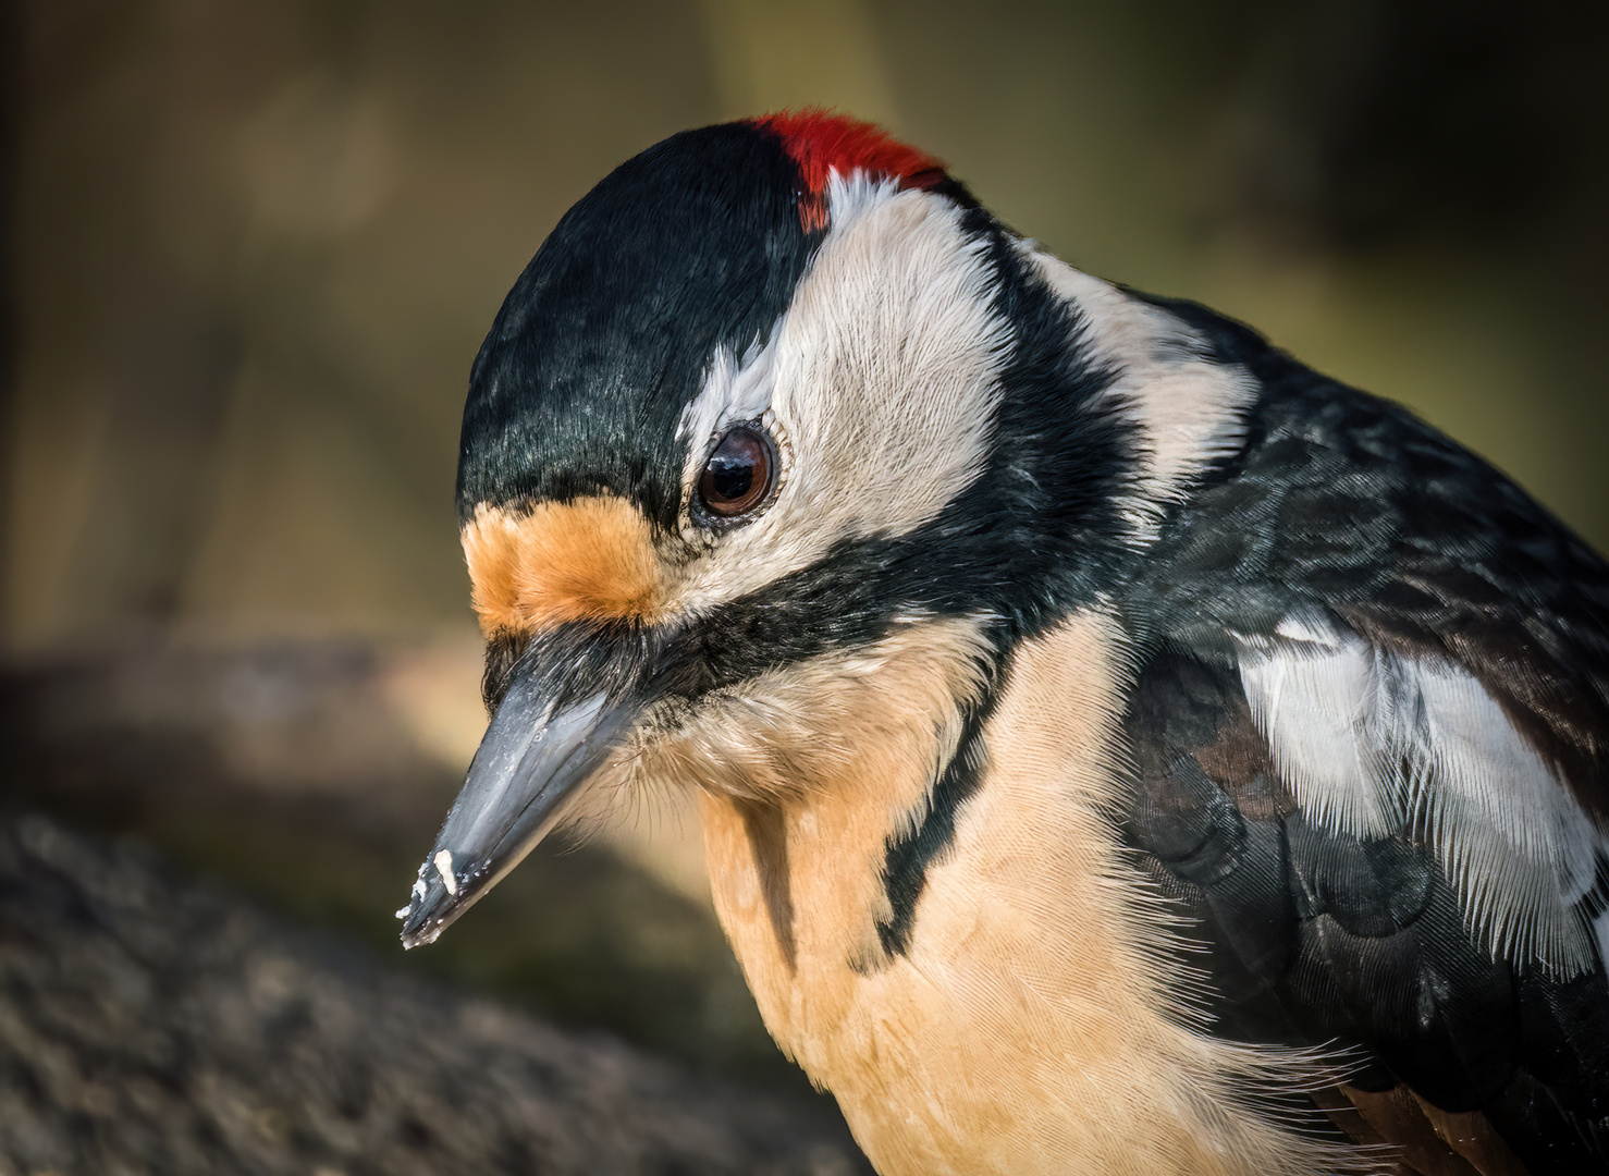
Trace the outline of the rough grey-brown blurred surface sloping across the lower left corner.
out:
<instances>
[{"instance_id":1,"label":"rough grey-brown blurred surface sloping across the lower left corner","mask_svg":"<svg viewBox=\"0 0 1609 1176\"><path fill-rule=\"evenodd\" d=\"M858 1171L809 1107L388 972L137 845L0 820L5 1176Z\"/></svg>"}]
</instances>

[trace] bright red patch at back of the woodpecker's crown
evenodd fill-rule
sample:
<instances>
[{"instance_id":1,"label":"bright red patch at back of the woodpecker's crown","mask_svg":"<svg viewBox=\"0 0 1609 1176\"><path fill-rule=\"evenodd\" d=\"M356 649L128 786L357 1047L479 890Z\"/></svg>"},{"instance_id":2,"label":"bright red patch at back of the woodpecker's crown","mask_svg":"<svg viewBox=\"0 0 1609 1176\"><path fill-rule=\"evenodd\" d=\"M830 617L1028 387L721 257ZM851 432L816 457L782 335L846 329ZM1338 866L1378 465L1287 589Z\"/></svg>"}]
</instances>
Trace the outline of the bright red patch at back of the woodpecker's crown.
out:
<instances>
[{"instance_id":1,"label":"bright red patch at back of the woodpecker's crown","mask_svg":"<svg viewBox=\"0 0 1609 1176\"><path fill-rule=\"evenodd\" d=\"M750 119L779 138L798 164L800 224L806 232L827 227L827 180L832 172L848 177L864 171L899 180L901 188L936 188L948 177L944 164L927 151L901 143L874 122L809 108Z\"/></svg>"}]
</instances>

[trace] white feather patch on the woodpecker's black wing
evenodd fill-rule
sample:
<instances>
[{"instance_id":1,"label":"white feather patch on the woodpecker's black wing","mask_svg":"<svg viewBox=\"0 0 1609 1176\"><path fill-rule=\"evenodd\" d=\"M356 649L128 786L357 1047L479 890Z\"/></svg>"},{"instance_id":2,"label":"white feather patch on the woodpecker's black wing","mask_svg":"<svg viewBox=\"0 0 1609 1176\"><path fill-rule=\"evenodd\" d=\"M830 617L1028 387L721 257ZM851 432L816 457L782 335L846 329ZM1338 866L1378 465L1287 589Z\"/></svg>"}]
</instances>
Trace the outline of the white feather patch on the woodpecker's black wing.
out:
<instances>
[{"instance_id":1,"label":"white feather patch on the woodpecker's black wing","mask_svg":"<svg viewBox=\"0 0 1609 1176\"><path fill-rule=\"evenodd\" d=\"M1315 824L1426 838L1477 943L1556 975L1593 967L1609 925L1582 899L1604 840L1480 682L1300 621L1241 655L1252 718Z\"/></svg>"}]
</instances>

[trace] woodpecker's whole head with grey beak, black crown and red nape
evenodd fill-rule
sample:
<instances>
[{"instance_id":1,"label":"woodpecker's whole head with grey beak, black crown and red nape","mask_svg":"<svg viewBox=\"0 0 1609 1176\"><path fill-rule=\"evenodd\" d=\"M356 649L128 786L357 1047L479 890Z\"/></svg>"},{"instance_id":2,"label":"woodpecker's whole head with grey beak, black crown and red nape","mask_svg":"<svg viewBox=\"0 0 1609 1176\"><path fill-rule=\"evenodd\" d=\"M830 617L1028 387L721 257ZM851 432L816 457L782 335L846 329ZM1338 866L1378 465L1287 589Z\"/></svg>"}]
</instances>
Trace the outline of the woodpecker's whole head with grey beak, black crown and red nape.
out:
<instances>
[{"instance_id":1,"label":"woodpecker's whole head with grey beak, black crown and red nape","mask_svg":"<svg viewBox=\"0 0 1609 1176\"><path fill-rule=\"evenodd\" d=\"M941 771L1012 645L1097 602L1178 479L1113 347L1199 356L1118 302L837 116L690 130L603 179L471 370L492 721L404 941L624 790Z\"/></svg>"}]
</instances>

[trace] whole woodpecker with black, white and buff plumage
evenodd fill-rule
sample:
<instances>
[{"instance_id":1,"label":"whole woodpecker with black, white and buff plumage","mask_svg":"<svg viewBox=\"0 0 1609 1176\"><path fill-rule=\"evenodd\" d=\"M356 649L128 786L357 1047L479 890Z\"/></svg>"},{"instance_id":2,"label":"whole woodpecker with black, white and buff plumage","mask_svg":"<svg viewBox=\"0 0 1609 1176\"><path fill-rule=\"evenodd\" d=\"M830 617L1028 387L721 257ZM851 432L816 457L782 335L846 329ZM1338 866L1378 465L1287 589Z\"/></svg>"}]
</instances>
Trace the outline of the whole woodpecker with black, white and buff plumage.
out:
<instances>
[{"instance_id":1,"label":"whole woodpecker with black, white and buff plumage","mask_svg":"<svg viewBox=\"0 0 1609 1176\"><path fill-rule=\"evenodd\" d=\"M565 214L457 507L405 944L689 788L885 1176L1609 1166L1609 568L1406 410L785 113Z\"/></svg>"}]
</instances>

